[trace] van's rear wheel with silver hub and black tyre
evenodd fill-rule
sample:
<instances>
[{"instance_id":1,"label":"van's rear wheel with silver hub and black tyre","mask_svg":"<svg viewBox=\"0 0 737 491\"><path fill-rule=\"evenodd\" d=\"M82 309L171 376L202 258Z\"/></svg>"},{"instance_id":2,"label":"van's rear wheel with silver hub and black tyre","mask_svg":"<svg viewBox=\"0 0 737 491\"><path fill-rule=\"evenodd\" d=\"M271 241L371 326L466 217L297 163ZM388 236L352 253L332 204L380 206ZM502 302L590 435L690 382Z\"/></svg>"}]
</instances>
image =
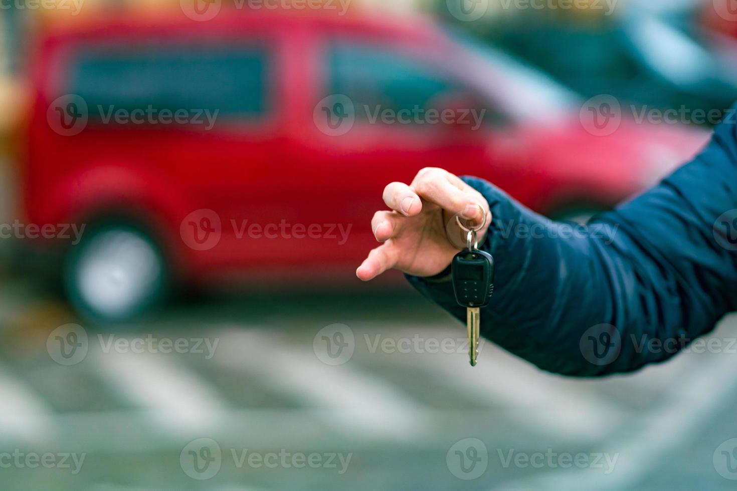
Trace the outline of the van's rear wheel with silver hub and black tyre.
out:
<instances>
[{"instance_id":1,"label":"van's rear wheel with silver hub and black tyre","mask_svg":"<svg viewBox=\"0 0 737 491\"><path fill-rule=\"evenodd\" d=\"M102 324L158 307L168 292L167 265L153 239L130 225L94 227L70 247L64 286L74 308Z\"/></svg>"}]
</instances>

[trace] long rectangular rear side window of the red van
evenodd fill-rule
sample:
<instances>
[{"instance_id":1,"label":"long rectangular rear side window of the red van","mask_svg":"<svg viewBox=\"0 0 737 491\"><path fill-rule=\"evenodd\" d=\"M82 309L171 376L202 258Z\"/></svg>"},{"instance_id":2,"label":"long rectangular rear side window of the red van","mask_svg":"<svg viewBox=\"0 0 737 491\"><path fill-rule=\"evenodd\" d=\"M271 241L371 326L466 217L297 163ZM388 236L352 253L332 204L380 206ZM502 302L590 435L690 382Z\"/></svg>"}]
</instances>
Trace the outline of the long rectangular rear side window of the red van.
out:
<instances>
[{"instance_id":1,"label":"long rectangular rear side window of the red van","mask_svg":"<svg viewBox=\"0 0 737 491\"><path fill-rule=\"evenodd\" d=\"M85 49L68 93L87 102L91 121L109 110L219 110L261 119L270 110L272 54L254 46L142 46Z\"/></svg>"}]
</instances>

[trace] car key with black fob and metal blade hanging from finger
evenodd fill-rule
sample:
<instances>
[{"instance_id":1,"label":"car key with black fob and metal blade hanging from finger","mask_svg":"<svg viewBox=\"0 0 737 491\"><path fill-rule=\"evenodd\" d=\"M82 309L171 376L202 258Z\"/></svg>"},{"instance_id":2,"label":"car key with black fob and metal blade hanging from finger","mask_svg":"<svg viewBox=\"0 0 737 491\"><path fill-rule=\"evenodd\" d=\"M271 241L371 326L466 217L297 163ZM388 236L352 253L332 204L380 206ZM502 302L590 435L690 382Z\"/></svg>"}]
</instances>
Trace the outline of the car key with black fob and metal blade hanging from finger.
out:
<instances>
[{"instance_id":1,"label":"car key with black fob and metal blade hanging from finger","mask_svg":"<svg viewBox=\"0 0 737 491\"><path fill-rule=\"evenodd\" d=\"M483 211L483 208L482 208ZM464 227L456 218L458 225L468 231L467 250L458 252L451 263L453 292L458 305L466 307L466 322L469 339L469 361L476 366L478 340L481 331L481 307L489 304L494 292L494 258L489 252L478 250L476 231L486 224L486 211L483 211L483 224L479 229Z\"/></svg>"}]
</instances>

